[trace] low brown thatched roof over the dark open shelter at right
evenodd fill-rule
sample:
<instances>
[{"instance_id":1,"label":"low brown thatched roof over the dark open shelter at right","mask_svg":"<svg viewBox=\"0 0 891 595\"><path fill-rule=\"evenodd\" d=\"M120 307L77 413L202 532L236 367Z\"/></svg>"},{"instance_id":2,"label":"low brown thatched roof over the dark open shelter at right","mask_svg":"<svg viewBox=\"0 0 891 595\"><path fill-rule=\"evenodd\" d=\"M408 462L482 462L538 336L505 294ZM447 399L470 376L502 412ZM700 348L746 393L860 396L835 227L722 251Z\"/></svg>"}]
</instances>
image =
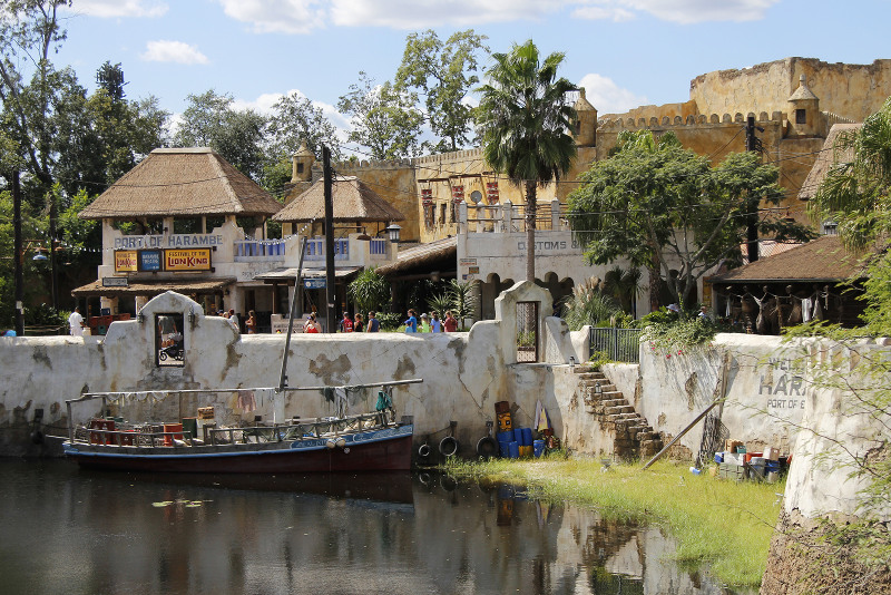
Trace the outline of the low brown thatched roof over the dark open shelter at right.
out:
<instances>
[{"instance_id":1,"label":"low brown thatched roof over the dark open shelter at right","mask_svg":"<svg viewBox=\"0 0 891 595\"><path fill-rule=\"evenodd\" d=\"M838 282L860 274L861 255L849 252L838 235L824 235L767 259L712 277L713 283Z\"/></svg>"}]
</instances>

